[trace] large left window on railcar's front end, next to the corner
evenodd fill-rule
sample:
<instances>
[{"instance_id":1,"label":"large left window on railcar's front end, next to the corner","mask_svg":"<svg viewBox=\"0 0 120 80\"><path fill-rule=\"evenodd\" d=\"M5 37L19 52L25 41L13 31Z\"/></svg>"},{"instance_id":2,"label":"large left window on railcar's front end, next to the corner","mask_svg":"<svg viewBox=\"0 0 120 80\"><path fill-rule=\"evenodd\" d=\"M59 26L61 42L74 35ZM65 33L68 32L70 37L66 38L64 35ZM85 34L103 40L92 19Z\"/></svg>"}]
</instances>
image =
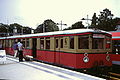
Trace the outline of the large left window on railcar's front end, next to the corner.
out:
<instances>
[{"instance_id":1,"label":"large left window on railcar's front end, next to the corner","mask_svg":"<svg viewBox=\"0 0 120 80\"><path fill-rule=\"evenodd\" d=\"M89 36L78 36L78 49L89 48Z\"/></svg>"}]
</instances>

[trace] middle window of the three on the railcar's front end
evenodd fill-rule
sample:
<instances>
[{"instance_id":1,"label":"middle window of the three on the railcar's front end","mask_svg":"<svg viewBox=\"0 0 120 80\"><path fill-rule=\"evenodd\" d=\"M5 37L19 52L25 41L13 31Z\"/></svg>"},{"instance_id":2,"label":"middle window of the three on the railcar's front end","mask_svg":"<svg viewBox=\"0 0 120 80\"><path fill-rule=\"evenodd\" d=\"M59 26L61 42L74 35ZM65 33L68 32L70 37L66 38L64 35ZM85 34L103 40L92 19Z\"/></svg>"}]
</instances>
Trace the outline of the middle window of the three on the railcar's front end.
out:
<instances>
[{"instance_id":1,"label":"middle window of the three on the railcar's front end","mask_svg":"<svg viewBox=\"0 0 120 80\"><path fill-rule=\"evenodd\" d=\"M93 49L103 49L104 39L103 38L93 38Z\"/></svg>"}]
</instances>

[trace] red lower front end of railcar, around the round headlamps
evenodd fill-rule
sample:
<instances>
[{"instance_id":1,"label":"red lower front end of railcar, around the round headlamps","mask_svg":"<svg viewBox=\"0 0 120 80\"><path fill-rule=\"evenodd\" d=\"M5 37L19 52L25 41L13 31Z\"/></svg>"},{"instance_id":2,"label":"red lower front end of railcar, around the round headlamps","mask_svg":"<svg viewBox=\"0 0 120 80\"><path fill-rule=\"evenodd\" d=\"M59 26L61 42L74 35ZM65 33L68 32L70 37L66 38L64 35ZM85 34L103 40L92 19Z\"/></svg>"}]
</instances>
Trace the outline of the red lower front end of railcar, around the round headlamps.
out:
<instances>
[{"instance_id":1,"label":"red lower front end of railcar, around the round headlamps","mask_svg":"<svg viewBox=\"0 0 120 80\"><path fill-rule=\"evenodd\" d=\"M107 54L88 54L89 62L85 63L83 58L84 54L77 54L77 67L76 68L92 68L96 66L111 66L111 59L106 59Z\"/></svg>"}]
</instances>

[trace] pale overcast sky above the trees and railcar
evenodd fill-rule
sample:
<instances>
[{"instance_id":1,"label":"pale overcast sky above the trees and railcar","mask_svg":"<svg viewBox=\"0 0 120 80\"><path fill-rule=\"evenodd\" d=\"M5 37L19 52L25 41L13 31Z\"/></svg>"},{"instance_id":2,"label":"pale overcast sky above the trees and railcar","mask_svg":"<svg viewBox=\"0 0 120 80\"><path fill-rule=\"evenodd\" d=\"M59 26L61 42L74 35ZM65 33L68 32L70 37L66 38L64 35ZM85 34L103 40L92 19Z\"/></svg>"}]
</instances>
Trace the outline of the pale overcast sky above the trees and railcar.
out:
<instances>
[{"instance_id":1,"label":"pale overcast sky above the trees and railcar","mask_svg":"<svg viewBox=\"0 0 120 80\"><path fill-rule=\"evenodd\" d=\"M120 0L0 0L0 23L18 23L36 28L44 20L61 21L70 27L82 18L108 8L114 17L120 17ZM90 23L90 22L89 22ZM83 21L86 25L86 21Z\"/></svg>"}]
</instances>

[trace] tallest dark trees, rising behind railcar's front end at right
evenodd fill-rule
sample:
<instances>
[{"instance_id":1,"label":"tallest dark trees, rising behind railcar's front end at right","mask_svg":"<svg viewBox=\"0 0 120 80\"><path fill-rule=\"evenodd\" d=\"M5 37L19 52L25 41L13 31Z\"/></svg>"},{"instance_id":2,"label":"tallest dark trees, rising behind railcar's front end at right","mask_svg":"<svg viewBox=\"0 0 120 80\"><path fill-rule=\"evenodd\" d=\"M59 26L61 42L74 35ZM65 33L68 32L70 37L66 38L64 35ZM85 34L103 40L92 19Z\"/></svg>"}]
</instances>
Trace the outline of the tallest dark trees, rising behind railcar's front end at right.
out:
<instances>
[{"instance_id":1,"label":"tallest dark trees, rising behind railcar's front end at right","mask_svg":"<svg viewBox=\"0 0 120 80\"><path fill-rule=\"evenodd\" d=\"M98 17L94 13L91 26L93 26L93 28L102 29L105 31L114 31L116 30L117 21L119 19L113 19L113 16L114 15L107 8L101 11Z\"/></svg>"}]
</instances>

